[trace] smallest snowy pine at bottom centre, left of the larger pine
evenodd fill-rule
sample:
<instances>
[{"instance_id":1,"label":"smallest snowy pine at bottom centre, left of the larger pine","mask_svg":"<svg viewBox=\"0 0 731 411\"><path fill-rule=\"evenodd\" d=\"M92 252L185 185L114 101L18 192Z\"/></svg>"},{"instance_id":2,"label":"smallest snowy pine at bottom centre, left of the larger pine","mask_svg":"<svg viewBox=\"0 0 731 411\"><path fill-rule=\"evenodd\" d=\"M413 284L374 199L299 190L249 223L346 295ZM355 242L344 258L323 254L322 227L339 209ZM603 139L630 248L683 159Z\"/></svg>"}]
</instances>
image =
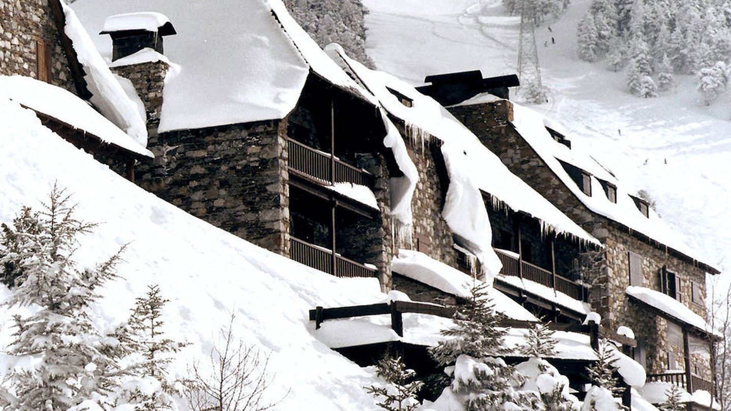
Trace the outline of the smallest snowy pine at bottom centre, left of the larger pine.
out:
<instances>
[{"instance_id":1,"label":"smallest snowy pine at bottom centre, left of the larger pine","mask_svg":"<svg viewBox=\"0 0 731 411\"><path fill-rule=\"evenodd\" d=\"M381 401L379 407L388 411L413 411L419 407L417 393L424 384L416 379L414 370L406 369L401 357L386 355L376 364L376 375L388 385L371 385L366 391Z\"/></svg>"}]
</instances>

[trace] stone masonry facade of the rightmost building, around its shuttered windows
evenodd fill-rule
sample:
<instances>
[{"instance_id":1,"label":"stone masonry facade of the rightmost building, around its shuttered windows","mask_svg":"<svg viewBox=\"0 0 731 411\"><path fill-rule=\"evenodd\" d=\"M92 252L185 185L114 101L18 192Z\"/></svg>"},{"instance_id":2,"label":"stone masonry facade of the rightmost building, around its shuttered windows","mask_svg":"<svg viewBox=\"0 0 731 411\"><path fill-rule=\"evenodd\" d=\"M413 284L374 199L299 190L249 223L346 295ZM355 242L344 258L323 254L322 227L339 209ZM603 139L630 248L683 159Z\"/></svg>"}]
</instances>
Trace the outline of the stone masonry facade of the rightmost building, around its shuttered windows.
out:
<instances>
[{"instance_id":1,"label":"stone masonry facade of the rightmost building, around its shuttered windows","mask_svg":"<svg viewBox=\"0 0 731 411\"><path fill-rule=\"evenodd\" d=\"M648 373L662 372L668 368L667 352L673 352L678 360L676 367L684 369L682 341L678 344L668 336L672 325L668 326L667 321L661 317L648 315L645 307L629 301L625 294L626 287L629 286L628 253L632 251L642 257L644 287L660 290L659 276L663 266L680 276L678 299L703 318L706 317L705 271L668 254L664 246L650 244L633 235L626 227L589 210L512 127L510 102L499 100L450 108L450 111L480 137L482 143L500 157L513 173L605 244L605 250L601 252L601 263L589 271L589 278L585 279L593 284L591 306L602 315L604 325L615 329L618 325L628 325L635 331L640 344L646 342ZM599 191L594 195L603 195L603 192ZM698 303L692 302L692 282L700 286L701 298ZM710 347L710 343L706 344ZM691 357L692 363L697 366L697 374L711 380L709 356L692 353Z\"/></svg>"}]
</instances>

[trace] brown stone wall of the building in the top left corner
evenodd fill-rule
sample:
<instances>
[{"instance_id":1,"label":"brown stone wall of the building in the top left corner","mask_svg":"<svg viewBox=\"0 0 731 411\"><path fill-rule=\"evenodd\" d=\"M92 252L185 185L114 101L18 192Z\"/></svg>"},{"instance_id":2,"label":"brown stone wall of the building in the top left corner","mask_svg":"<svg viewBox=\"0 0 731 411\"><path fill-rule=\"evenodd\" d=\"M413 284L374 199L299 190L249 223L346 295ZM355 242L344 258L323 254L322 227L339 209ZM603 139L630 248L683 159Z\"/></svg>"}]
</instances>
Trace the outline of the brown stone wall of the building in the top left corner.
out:
<instances>
[{"instance_id":1,"label":"brown stone wall of the building in the top left corner","mask_svg":"<svg viewBox=\"0 0 731 411\"><path fill-rule=\"evenodd\" d=\"M49 83L76 94L49 0L0 1L0 75L38 78L36 44L50 51Z\"/></svg>"}]
</instances>

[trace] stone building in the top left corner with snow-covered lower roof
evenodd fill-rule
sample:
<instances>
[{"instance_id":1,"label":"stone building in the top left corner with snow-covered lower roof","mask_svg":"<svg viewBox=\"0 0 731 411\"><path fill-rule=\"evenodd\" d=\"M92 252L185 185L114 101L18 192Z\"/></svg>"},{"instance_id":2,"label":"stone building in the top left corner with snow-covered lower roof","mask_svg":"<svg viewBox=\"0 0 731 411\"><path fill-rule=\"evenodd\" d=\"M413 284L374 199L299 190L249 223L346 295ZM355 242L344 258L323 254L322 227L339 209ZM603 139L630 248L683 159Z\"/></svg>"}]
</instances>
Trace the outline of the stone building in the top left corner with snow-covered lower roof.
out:
<instances>
[{"instance_id":1,"label":"stone building in the top left corner with snow-covered lower roof","mask_svg":"<svg viewBox=\"0 0 731 411\"><path fill-rule=\"evenodd\" d=\"M65 32L66 27L67 8L59 0L3 1L1 88L65 140L131 176L135 162L148 161L152 154L129 137L119 122L105 117L114 111L114 104L90 91L94 83L87 82L88 69L77 55L79 44ZM100 110L89 99L110 110Z\"/></svg>"}]
</instances>

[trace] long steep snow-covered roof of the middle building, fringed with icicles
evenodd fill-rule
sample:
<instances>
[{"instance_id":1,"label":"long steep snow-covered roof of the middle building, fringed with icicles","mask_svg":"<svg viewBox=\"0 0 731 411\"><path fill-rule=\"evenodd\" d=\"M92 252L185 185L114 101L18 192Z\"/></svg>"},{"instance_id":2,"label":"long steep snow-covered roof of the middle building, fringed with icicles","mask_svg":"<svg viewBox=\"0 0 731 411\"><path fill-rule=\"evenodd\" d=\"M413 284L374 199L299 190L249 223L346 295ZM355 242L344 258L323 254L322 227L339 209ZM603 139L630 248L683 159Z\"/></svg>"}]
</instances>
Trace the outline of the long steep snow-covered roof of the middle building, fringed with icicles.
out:
<instances>
[{"instance_id":1,"label":"long steep snow-covered roof of the middle building, fringed with icicles","mask_svg":"<svg viewBox=\"0 0 731 411\"><path fill-rule=\"evenodd\" d=\"M341 48L331 45L326 50L336 61L341 61L341 66L363 82L390 115L403 120L407 128L418 128L442 140L445 159L452 159L450 168L453 173L450 179L459 173L459 177L469 179L477 189L499 198L510 208L542 220L550 230L599 244L596 238L511 173L495 154L480 143L476 135L431 97L420 94L414 87L393 75L364 67L350 59ZM411 99L411 107L404 105L397 94Z\"/></svg>"}]
</instances>

